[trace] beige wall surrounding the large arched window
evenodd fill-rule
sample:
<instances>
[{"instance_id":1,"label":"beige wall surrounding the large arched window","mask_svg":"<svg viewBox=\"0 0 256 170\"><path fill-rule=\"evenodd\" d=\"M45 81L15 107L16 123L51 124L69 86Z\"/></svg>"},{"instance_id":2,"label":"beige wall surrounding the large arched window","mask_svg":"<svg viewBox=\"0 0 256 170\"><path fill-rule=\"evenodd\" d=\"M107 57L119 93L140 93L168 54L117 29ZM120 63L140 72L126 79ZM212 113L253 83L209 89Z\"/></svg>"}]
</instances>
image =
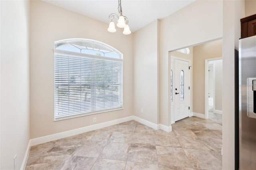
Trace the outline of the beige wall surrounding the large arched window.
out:
<instances>
[{"instance_id":1,"label":"beige wall surrounding the large arched window","mask_svg":"<svg viewBox=\"0 0 256 170\"><path fill-rule=\"evenodd\" d=\"M133 115L132 34L107 31L108 24L53 6L31 1L30 138L64 132ZM107 43L123 53L124 109L54 122L54 42L86 38Z\"/></svg>"}]
</instances>

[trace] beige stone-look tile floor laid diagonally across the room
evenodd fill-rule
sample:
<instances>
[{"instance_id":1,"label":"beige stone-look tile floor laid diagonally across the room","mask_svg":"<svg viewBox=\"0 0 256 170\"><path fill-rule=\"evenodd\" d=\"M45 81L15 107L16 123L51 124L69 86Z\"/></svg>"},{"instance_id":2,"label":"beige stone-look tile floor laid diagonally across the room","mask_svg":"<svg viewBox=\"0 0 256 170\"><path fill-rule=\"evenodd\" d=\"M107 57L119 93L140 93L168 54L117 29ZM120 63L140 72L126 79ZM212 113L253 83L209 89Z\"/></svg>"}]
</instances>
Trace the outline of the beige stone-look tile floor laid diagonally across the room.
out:
<instances>
[{"instance_id":1,"label":"beige stone-look tile floor laid diagonally across the room","mask_svg":"<svg viewBox=\"0 0 256 170\"><path fill-rule=\"evenodd\" d=\"M182 119L172 132L128 121L39 144L26 170L221 170L218 117Z\"/></svg>"}]
</instances>

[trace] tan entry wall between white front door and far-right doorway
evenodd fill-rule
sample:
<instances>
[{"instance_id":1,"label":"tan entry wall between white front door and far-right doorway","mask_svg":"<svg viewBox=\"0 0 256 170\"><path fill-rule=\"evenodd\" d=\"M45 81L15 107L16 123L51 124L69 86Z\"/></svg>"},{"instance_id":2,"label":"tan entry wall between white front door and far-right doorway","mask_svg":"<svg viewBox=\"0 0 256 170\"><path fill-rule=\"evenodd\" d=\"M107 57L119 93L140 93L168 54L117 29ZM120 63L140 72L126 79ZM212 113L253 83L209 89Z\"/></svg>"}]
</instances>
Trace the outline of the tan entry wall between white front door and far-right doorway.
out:
<instances>
[{"instance_id":1,"label":"tan entry wall between white front door and far-right doorway","mask_svg":"<svg viewBox=\"0 0 256 170\"><path fill-rule=\"evenodd\" d=\"M204 114L205 59L222 57L222 40L193 47L193 112Z\"/></svg>"}]
</instances>

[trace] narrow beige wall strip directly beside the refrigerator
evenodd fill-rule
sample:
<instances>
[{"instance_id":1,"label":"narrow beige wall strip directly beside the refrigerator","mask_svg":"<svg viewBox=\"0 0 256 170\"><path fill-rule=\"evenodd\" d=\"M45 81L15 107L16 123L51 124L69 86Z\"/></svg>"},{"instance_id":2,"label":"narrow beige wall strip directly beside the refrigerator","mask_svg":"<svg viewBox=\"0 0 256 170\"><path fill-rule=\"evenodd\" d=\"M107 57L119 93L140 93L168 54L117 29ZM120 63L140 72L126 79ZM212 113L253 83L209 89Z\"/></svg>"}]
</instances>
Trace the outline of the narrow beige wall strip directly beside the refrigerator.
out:
<instances>
[{"instance_id":1,"label":"narrow beige wall strip directly beside the refrigerator","mask_svg":"<svg viewBox=\"0 0 256 170\"><path fill-rule=\"evenodd\" d=\"M223 1L222 170L234 170L234 48L238 49L244 0Z\"/></svg>"}]
</instances>

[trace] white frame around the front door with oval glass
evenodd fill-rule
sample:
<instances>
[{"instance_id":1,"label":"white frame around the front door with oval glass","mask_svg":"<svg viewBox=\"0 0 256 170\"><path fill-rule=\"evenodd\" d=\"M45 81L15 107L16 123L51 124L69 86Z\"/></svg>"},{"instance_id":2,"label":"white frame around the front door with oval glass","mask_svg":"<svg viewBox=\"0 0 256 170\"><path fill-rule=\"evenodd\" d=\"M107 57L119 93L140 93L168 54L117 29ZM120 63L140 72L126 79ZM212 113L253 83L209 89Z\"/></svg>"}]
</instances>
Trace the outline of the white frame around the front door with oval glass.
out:
<instances>
[{"instance_id":1,"label":"white frame around the front door with oval glass","mask_svg":"<svg viewBox=\"0 0 256 170\"><path fill-rule=\"evenodd\" d=\"M191 76L190 76L190 74L191 74L191 60L189 60L189 59L184 59L184 58L180 58L180 57L175 57L175 56L173 56L173 55L171 55L170 56L170 61L172 62L173 61L173 63L172 64L170 64L170 69L169 69L169 76L168 76L168 78L169 78L169 80L170 80L170 72L171 72L171 70L172 70L172 88L174 87L174 85L175 85L175 78L174 78L174 75L175 75L175 59L179 59L179 60L182 60L182 61L187 61L188 62L188 65L189 65L189 67L190 67L190 69L188 69L188 86L190 87L190 90L189 90L189 92L188 92L188 105L189 105L189 107L190 107L190 109L188 110L188 113L189 113L189 117L191 117L191 116L193 116L192 115L192 112L191 112L191 106L190 106L190 104L191 104L191 100L190 100L190 97L191 97L191 91L192 91L192 88L191 88ZM169 62L170 63L170 62ZM168 87L169 87L169 89L170 89L170 86L171 86L171 83L170 83L170 81L168 81L169 82L169 85L168 85ZM173 92L174 90L172 89L172 92ZM170 91L170 93L169 93L169 101L170 101L170 96L171 96L171 91ZM174 114L174 111L175 111L175 99L174 99L174 97L175 97L175 95L172 95L172 103L171 102L169 102L169 112L170 112L170 115L171 115L171 124L173 124L173 123L175 123L175 114Z\"/></svg>"}]
</instances>

